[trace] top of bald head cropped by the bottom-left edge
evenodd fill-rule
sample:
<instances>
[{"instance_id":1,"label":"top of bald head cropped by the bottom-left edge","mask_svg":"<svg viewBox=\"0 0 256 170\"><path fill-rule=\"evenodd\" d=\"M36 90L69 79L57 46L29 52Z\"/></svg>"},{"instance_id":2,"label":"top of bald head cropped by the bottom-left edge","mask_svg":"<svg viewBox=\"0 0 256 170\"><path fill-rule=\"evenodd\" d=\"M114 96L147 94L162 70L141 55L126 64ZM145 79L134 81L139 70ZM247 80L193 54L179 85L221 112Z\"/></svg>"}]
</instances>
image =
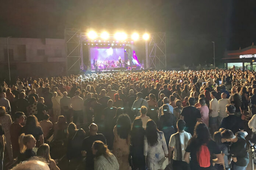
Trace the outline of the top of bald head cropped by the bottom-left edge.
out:
<instances>
[{"instance_id":1,"label":"top of bald head cropped by the bottom-left edge","mask_svg":"<svg viewBox=\"0 0 256 170\"><path fill-rule=\"evenodd\" d=\"M29 160L19 163L11 170L50 170L49 166L40 160Z\"/></svg>"}]
</instances>

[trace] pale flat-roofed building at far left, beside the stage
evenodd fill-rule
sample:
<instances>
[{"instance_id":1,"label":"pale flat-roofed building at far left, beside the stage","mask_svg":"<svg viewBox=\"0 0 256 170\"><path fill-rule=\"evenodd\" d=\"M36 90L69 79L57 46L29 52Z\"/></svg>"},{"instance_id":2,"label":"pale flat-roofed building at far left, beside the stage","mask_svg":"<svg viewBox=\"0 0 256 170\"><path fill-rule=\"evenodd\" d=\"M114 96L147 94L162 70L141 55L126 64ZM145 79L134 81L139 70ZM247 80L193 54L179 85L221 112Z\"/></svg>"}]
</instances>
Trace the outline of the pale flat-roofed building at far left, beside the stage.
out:
<instances>
[{"instance_id":1,"label":"pale flat-roofed building at far left, beside the stage","mask_svg":"<svg viewBox=\"0 0 256 170\"><path fill-rule=\"evenodd\" d=\"M65 74L65 40L8 38L12 76ZM0 37L0 71L8 75L7 41ZM3 75L1 75L3 77Z\"/></svg>"}]
</instances>

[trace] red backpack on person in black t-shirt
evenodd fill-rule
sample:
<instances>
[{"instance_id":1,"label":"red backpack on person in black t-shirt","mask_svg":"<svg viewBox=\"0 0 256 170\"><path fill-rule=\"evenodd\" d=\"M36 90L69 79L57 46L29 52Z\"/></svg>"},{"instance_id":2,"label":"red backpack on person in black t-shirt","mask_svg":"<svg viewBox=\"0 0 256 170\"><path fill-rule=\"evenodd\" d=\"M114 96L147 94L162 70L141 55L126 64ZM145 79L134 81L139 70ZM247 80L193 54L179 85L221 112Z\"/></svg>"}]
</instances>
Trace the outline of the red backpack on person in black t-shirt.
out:
<instances>
[{"instance_id":1,"label":"red backpack on person in black t-shirt","mask_svg":"<svg viewBox=\"0 0 256 170\"><path fill-rule=\"evenodd\" d=\"M209 167L210 164L210 151L206 144L200 146L199 151L196 153L198 165L200 167Z\"/></svg>"}]
</instances>

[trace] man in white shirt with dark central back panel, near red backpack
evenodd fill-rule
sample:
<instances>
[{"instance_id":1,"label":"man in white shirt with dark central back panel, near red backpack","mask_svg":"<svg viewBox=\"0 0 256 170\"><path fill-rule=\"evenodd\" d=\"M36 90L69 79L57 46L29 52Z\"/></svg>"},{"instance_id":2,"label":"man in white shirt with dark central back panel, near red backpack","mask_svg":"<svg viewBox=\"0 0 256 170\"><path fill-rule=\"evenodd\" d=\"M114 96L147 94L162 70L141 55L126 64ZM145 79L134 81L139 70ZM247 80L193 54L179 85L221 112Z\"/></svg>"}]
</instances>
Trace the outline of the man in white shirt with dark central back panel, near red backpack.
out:
<instances>
[{"instance_id":1,"label":"man in white shirt with dark central back panel, near red backpack","mask_svg":"<svg viewBox=\"0 0 256 170\"><path fill-rule=\"evenodd\" d=\"M171 159L173 159L173 169L175 170L189 169L188 163L185 162L184 154L188 141L192 136L190 133L184 131L185 127L185 121L179 119L177 121L178 132L171 135L169 142L169 149L170 151L173 151L173 156L171 156Z\"/></svg>"}]
</instances>

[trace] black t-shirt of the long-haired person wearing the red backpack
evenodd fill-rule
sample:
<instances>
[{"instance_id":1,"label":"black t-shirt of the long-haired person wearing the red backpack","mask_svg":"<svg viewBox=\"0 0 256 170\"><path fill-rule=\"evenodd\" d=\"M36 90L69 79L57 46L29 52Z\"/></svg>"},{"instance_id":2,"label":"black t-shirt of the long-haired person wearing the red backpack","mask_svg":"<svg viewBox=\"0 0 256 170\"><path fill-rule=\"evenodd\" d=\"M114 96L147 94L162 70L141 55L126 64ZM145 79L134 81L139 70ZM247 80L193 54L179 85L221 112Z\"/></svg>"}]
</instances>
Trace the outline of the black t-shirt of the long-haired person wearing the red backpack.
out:
<instances>
[{"instance_id":1,"label":"black t-shirt of the long-haired person wearing the red backpack","mask_svg":"<svg viewBox=\"0 0 256 170\"><path fill-rule=\"evenodd\" d=\"M212 166L212 163L210 163L211 164L210 167L207 167L207 168L203 168L203 167L200 167L198 165L198 160L197 160L196 154L197 154L198 149L200 147L198 147L197 142L198 141L195 138L191 138L189 140L189 142L188 142L188 146L185 149L186 152L190 152L190 156L191 156L190 168L191 168L191 170L206 170L206 169L210 169L210 167ZM210 140L207 143L207 147L208 147L211 155L213 155L213 154L221 154L221 150L220 150L220 148L218 147L218 145L216 144L215 141Z\"/></svg>"}]
</instances>

